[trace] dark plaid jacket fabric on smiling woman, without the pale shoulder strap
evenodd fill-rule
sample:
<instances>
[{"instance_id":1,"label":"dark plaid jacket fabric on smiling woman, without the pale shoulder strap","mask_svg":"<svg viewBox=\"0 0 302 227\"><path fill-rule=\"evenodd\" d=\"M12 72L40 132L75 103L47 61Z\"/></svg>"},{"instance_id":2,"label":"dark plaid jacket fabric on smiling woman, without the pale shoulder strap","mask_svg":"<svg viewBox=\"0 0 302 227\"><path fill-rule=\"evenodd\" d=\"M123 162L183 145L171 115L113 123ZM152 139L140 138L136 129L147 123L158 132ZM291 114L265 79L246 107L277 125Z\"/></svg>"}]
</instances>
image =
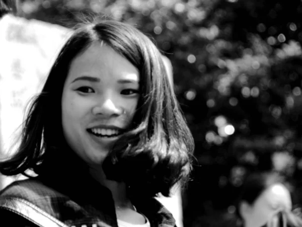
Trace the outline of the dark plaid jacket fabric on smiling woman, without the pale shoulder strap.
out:
<instances>
[{"instance_id":1,"label":"dark plaid jacket fabric on smiling woman, without the pale shoulder strap","mask_svg":"<svg viewBox=\"0 0 302 227\"><path fill-rule=\"evenodd\" d=\"M9 185L0 193L0 198L24 199L67 226L118 227L113 198L107 188L96 182L74 187L68 181L60 182L56 188L59 192L37 179L29 179ZM150 220L152 227L175 226L172 214L155 198L141 201L135 206Z\"/></svg>"}]
</instances>

